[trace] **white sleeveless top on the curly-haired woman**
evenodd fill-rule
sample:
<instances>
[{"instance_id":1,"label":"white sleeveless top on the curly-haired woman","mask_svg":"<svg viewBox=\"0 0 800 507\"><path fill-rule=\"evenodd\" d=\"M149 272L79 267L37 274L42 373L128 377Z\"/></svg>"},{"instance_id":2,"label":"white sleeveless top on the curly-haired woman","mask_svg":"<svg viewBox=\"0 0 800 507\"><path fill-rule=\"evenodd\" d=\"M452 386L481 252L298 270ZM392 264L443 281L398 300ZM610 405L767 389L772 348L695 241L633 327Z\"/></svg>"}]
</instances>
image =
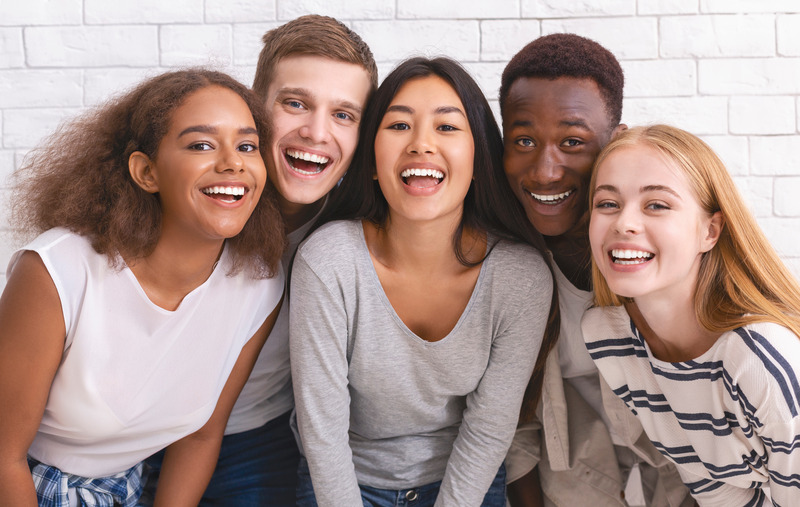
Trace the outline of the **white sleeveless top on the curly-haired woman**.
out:
<instances>
[{"instance_id":1,"label":"white sleeveless top on the curly-haired woman","mask_svg":"<svg viewBox=\"0 0 800 507\"><path fill-rule=\"evenodd\" d=\"M153 304L127 266L89 241L51 229L17 251L39 254L67 330L30 456L84 477L127 470L202 427L242 347L280 301L284 276L211 276L175 311Z\"/></svg>"}]
</instances>

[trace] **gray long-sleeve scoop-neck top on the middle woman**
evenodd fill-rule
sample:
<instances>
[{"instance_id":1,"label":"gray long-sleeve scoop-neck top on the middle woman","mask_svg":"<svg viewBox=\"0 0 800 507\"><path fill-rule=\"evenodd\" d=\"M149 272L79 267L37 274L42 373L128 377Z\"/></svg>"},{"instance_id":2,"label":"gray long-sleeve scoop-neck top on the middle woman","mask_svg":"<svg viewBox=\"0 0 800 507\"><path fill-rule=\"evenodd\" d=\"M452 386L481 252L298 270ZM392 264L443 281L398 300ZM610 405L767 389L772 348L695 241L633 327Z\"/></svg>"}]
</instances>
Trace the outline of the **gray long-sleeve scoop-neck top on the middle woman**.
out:
<instances>
[{"instance_id":1,"label":"gray long-sleeve scoop-neck top on the middle woman","mask_svg":"<svg viewBox=\"0 0 800 507\"><path fill-rule=\"evenodd\" d=\"M437 506L480 505L514 435L551 291L535 250L500 242L453 330L428 342L389 303L360 222L315 232L294 261L290 356L319 505L362 505L359 483L438 480Z\"/></svg>"}]
</instances>

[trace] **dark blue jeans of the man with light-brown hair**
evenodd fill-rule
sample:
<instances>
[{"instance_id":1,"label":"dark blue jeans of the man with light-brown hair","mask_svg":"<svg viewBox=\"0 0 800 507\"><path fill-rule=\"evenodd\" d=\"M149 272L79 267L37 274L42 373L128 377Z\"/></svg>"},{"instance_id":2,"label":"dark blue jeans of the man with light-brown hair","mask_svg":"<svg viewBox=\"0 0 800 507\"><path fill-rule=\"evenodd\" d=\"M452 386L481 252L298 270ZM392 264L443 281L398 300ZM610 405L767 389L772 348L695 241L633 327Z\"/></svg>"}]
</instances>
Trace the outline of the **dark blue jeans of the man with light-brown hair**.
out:
<instances>
[{"instance_id":1,"label":"dark blue jeans of the man with light-brown hair","mask_svg":"<svg viewBox=\"0 0 800 507\"><path fill-rule=\"evenodd\" d=\"M199 505L295 505L300 452L289 427L289 414L291 412L276 417L260 428L226 435L222 439L217 468ZM146 461L151 468L145 485L150 504L163 457L162 451ZM147 502L143 504L147 505Z\"/></svg>"}]
</instances>

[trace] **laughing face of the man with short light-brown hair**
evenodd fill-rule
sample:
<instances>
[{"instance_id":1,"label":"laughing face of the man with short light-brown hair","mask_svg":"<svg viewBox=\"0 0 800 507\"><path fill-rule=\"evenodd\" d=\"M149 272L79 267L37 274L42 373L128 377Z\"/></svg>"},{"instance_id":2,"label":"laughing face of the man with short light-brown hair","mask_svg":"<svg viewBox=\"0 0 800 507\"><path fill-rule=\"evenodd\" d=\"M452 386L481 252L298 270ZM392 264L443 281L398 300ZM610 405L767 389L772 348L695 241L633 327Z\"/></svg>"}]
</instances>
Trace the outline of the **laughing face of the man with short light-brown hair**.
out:
<instances>
[{"instance_id":1,"label":"laughing face of the man with short light-brown hair","mask_svg":"<svg viewBox=\"0 0 800 507\"><path fill-rule=\"evenodd\" d=\"M266 100L272 117L267 169L286 213L320 201L344 175L370 80L359 65L302 55L278 62L274 76Z\"/></svg>"}]
</instances>

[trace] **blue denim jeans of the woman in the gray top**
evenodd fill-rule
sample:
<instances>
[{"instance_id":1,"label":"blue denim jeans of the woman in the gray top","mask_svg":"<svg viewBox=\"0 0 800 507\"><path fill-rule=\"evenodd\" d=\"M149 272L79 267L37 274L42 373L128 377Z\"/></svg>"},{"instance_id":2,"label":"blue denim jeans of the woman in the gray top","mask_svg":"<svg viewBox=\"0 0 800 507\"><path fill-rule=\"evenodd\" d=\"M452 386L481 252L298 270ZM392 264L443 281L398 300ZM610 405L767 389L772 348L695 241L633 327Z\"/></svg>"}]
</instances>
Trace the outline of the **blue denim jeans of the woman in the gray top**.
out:
<instances>
[{"instance_id":1,"label":"blue denim jeans of the woman in the gray top","mask_svg":"<svg viewBox=\"0 0 800 507\"><path fill-rule=\"evenodd\" d=\"M441 485L442 481L436 481L411 489L378 489L360 484L359 488L364 507L433 507ZM297 505L317 507L311 475L308 472L308 462L303 457L300 458L300 465L297 467ZM505 505L506 468L505 465L500 465L500 470L489 486L481 507L505 507Z\"/></svg>"}]
</instances>

